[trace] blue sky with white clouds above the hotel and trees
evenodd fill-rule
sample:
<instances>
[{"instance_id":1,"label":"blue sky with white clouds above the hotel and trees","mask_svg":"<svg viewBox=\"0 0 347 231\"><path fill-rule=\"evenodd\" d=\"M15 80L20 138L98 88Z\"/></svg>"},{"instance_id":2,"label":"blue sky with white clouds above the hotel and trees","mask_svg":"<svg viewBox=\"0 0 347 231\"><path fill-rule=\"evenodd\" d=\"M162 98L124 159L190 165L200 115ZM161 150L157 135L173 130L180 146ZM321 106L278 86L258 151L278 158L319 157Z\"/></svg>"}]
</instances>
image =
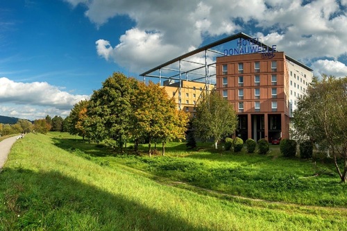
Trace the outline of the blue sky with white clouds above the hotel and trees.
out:
<instances>
[{"instance_id":1,"label":"blue sky with white clouds above the hotel and trees","mask_svg":"<svg viewBox=\"0 0 347 231\"><path fill-rule=\"evenodd\" d=\"M0 1L0 115L63 118L112 73L139 74L239 32L347 76L347 0Z\"/></svg>"}]
</instances>

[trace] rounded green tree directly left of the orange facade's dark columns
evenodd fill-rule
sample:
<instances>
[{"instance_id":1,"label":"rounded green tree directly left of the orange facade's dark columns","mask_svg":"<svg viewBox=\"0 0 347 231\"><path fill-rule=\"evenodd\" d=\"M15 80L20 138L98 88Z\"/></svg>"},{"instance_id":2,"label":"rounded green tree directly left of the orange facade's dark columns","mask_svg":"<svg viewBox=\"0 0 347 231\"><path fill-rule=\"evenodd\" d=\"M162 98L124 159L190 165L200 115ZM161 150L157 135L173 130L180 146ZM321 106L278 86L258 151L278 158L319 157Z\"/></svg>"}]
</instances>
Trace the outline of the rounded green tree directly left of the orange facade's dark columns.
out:
<instances>
[{"instance_id":1,"label":"rounded green tree directly left of the orange facade's dark columns","mask_svg":"<svg viewBox=\"0 0 347 231\"><path fill-rule=\"evenodd\" d=\"M234 108L223 99L217 91L203 95L196 107L196 117L193 121L197 137L203 140L214 139L214 147L223 136L231 135L237 126L237 116Z\"/></svg>"}]
</instances>

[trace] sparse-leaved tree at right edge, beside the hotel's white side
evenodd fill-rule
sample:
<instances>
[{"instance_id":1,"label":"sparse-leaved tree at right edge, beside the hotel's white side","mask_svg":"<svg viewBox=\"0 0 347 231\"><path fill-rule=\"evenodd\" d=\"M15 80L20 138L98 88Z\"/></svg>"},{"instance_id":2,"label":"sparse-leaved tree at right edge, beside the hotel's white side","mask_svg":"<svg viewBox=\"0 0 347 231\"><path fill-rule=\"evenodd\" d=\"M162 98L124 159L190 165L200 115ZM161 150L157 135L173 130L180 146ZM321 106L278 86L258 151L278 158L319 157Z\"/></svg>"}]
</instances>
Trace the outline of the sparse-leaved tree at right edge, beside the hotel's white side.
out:
<instances>
[{"instance_id":1,"label":"sparse-leaved tree at right edge, beside the hotel's white side","mask_svg":"<svg viewBox=\"0 0 347 231\"><path fill-rule=\"evenodd\" d=\"M294 128L298 137L309 137L331 151L341 182L347 180L347 76L314 78L307 94L297 102ZM343 160L344 170L339 166Z\"/></svg>"}]
</instances>

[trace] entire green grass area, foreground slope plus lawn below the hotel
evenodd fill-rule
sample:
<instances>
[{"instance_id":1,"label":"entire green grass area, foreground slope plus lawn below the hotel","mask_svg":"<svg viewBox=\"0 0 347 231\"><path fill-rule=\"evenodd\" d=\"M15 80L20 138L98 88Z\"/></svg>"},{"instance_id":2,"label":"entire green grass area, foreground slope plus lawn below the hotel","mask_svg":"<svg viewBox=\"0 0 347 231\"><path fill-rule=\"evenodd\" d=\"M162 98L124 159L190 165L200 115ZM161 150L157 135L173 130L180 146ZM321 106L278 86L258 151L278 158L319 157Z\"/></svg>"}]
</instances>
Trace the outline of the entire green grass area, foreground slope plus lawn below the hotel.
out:
<instances>
[{"instance_id":1,"label":"entire green grass area, foreground slope plus lawn below the hotel","mask_svg":"<svg viewBox=\"0 0 347 231\"><path fill-rule=\"evenodd\" d=\"M0 230L347 229L344 208L249 200L214 188L219 183L213 179L223 174L225 182L236 180L235 186L243 178L269 178L260 169L273 161L283 164L281 157L185 151L181 145L169 144L167 157L149 158L116 155L66 134L28 134L12 147L0 173ZM294 173L306 176L311 163L294 162L301 163ZM276 164L273 168L280 171ZM228 169L238 172L229 178ZM189 172L202 175L194 180ZM206 176L211 178L199 182ZM344 187L332 183L336 176L324 179L332 189Z\"/></svg>"}]
</instances>

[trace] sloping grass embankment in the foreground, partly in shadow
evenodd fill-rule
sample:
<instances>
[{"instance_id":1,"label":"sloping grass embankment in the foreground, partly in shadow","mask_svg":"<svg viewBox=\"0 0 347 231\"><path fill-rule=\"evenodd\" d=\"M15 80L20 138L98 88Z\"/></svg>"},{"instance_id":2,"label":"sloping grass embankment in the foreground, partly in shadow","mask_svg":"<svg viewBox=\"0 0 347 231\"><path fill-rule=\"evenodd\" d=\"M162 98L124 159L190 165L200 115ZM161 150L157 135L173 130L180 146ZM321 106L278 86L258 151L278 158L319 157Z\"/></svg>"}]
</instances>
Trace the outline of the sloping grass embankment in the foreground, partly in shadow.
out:
<instances>
[{"instance_id":1,"label":"sloping grass embankment in the foreground, partly in shadow","mask_svg":"<svg viewBox=\"0 0 347 231\"><path fill-rule=\"evenodd\" d=\"M13 146L0 173L0 230L347 229L345 209L197 194L96 164L54 139L29 134Z\"/></svg>"}]
</instances>

